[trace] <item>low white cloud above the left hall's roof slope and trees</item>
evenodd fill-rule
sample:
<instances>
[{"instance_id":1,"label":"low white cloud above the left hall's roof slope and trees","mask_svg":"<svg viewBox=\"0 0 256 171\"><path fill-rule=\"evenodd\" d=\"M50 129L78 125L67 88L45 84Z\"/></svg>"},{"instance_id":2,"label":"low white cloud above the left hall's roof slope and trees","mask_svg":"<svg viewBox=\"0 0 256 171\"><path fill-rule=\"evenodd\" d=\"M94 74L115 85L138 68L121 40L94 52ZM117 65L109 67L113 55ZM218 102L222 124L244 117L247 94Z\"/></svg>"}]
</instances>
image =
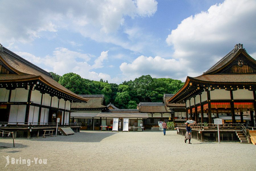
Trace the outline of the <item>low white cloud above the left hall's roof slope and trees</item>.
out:
<instances>
[{"instance_id":1,"label":"low white cloud above the left hall's roof slope and trees","mask_svg":"<svg viewBox=\"0 0 256 171\"><path fill-rule=\"evenodd\" d=\"M56 48L53 55L45 57L36 57L27 52L15 52L29 62L40 66L41 68L63 75L69 72L79 74L82 78L90 80L103 80L121 82L118 78L111 78L105 73L96 73L93 70L103 67L104 60L108 57L108 51L101 52L101 55L96 58L93 65L88 64L93 57L90 54L71 51L67 48Z\"/></svg>"}]
</instances>

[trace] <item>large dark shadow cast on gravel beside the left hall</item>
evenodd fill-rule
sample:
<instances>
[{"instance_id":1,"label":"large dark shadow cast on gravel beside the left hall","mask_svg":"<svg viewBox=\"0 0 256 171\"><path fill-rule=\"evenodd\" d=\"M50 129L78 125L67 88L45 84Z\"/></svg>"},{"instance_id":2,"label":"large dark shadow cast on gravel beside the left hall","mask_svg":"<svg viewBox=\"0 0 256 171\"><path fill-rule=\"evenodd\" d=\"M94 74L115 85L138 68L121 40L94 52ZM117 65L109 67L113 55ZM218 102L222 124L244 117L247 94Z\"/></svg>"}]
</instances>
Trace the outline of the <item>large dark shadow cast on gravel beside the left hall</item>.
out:
<instances>
[{"instance_id":1,"label":"large dark shadow cast on gravel beside the left hall","mask_svg":"<svg viewBox=\"0 0 256 171\"><path fill-rule=\"evenodd\" d=\"M110 137L117 132L93 132L93 131L81 131L80 133L75 133L74 135L57 135L57 137L46 137L46 138L33 138L31 141L62 141L62 142L88 142L97 143L102 141L104 138Z\"/></svg>"}]
</instances>

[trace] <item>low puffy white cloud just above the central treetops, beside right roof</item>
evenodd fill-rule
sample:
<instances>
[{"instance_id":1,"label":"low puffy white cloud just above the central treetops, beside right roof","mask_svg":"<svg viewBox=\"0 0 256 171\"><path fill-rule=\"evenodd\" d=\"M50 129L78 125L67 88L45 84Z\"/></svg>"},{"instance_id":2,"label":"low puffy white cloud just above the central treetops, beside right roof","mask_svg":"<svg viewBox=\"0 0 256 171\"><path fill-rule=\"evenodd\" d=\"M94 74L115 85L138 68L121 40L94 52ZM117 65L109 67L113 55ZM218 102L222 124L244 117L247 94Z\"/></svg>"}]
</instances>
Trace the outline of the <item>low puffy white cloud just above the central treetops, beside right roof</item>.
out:
<instances>
[{"instance_id":1,"label":"low puffy white cloud just above the central treetops, beside right roof","mask_svg":"<svg viewBox=\"0 0 256 171\"><path fill-rule=\"evenodd\" d=\"M139 56L130 64L122 63L119 68L128 80L148 74L156 78L181 79L187 74L184 70L185 65L187 62L184 60Z\"/></svg>"}]
</instances>

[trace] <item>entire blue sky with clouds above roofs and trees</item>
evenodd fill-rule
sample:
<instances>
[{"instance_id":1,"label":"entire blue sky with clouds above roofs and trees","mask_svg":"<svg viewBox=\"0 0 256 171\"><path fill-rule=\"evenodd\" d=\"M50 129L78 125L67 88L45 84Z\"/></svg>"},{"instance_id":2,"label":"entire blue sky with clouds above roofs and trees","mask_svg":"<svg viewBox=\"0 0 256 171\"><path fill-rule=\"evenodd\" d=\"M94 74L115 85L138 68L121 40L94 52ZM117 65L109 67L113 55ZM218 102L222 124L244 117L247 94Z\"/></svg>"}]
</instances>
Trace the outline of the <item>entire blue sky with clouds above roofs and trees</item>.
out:
<instances>
[{"instance_id":1,"label":"entire blue sky with clouds above roofs and trees","mask_svg":"<svg viewBox=\"0 0 256 171\"><path fill-rule=\"evenodd\" d=\"M256 57L254 0L0 1L0 43L59 75L199 76L235 44Z\"/></svg>"}]
</instances>

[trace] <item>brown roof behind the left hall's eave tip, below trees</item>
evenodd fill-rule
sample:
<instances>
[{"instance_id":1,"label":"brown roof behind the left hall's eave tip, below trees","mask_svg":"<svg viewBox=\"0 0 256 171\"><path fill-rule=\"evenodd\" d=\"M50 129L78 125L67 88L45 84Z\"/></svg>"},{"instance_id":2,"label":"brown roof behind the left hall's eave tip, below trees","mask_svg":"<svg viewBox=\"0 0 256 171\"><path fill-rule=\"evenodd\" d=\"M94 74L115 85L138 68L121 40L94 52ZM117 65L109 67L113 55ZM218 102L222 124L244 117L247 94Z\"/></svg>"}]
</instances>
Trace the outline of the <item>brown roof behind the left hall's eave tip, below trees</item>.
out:
<instances>
[{"instance_id":1,"label":"brown roof behind the left hall's eave tip, below trees","mask_svg":"<svg viewBox=\"0 0 256 171\"><path fill-rule=\"evenodd\" d=\"M80 95L88 99L87 103L72 103L71 109L104 109L105 97L104 95Z\"/></svg>"}]
</instances>

